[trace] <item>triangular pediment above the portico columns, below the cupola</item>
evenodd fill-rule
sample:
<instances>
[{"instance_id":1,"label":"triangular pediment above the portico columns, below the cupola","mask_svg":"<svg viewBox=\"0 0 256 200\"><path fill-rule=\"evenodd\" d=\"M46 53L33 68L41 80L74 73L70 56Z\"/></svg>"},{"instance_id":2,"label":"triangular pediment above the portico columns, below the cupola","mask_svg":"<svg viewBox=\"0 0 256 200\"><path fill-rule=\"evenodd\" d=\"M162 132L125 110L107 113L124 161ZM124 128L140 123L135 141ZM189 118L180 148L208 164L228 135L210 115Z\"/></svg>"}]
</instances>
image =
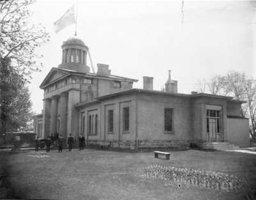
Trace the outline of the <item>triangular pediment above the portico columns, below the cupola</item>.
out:
<instances>
[{"instance_id":1,"label":"triangular pediment above the portico columns, below the cupola","mask_svg":"<svg viewBox=\"0 0 256 200\"><path fill-rule=\"evenodd\" d=\"M44 88L44 86L50 84L51 82L61 79L61 77L67 76L69 73L70 72L65 72L64 70L61 70L59 68L52 68L51 71L45 77L42 84L40 84L40 88Z\"/></svg>"}]
</instances>

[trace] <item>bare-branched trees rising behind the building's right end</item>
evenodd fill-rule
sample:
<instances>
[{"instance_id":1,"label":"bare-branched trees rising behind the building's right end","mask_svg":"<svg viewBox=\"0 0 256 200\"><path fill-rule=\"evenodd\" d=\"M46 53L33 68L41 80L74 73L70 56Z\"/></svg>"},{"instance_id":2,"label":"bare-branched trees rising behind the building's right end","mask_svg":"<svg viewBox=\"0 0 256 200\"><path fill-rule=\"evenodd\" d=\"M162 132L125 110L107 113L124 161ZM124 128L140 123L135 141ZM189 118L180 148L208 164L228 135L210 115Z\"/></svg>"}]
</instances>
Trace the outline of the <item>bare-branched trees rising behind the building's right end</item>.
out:
<instances>
[{"instance_id":1,"label":"bare-branched trees rising behind the building's right end","mask_svg":"<svg viewBox=\"0 0 256 200\"><path fill-rule=\"evenodd\" d=\"M241 116L248 117L250 135L256 141L256 80L248 79L245 73L229 71L227 75L216 75L209 82L198 81L197 91L209 92L212 95L234 96L235 100L244 100L241 105Z\"/></svg>"}]
</instances>

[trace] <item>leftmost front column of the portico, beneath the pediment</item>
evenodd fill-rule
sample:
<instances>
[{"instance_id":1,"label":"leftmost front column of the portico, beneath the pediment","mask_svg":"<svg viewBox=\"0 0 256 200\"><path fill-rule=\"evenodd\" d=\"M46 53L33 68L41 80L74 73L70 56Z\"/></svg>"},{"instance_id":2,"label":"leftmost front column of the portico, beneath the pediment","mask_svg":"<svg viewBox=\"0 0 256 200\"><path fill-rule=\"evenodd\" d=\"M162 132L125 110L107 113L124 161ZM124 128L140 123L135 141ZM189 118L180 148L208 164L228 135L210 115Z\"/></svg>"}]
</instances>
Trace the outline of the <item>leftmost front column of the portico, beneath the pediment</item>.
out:
<instances>
[{"instance_id":1,"label":"leftmost front column of the portico, beneath the pediment","mask_svg":"<svg viewBox=\"0 0 256 200\"><path fill-rule=\"evenodd\" d=\"M45 139L50 133L50 118L51 118L51 98L45 98L44 99L44 110L43 110L43 127L42 127L42 132L43 135L42 137Z\"/></svg>"}]
</instances>

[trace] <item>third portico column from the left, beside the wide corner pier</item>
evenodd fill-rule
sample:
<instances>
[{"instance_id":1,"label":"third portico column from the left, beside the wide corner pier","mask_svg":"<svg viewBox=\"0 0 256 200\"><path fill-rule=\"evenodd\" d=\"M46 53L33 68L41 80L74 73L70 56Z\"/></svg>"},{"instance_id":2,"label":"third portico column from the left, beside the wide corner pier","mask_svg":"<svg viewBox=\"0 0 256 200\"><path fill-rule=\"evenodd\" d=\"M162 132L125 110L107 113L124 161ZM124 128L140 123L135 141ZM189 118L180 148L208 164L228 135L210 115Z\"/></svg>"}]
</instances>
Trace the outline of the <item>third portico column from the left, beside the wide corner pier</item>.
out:
<instances>
[{"instance_id":1,"label":"third portico column from the left, beside the wide corner pier","mask_svg":"<svg viewBox=\"0 0 256 200\"><path fill-rule=\"evenodd\" d=\"M68 93L60 95L60 133L64 138L67 138L67 102Z\"/></svg>"}]
</instances>

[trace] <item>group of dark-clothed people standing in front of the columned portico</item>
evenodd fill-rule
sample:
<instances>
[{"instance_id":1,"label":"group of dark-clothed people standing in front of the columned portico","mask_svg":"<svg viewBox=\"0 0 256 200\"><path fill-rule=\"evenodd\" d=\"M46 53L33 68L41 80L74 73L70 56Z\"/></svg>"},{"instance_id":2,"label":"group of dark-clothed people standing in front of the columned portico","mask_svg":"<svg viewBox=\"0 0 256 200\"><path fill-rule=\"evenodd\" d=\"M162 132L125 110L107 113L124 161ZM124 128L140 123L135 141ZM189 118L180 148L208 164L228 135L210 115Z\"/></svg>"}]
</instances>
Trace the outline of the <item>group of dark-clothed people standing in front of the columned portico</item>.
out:
<instances>
[{"instance_id":1,"label":"group of dark-clothed people standing in front of the columned portico","mask_svg":"<svg viewBox=\"0 0 256 200\"><path fill-rule=\"evenodd\" d=\"M54 144L54 141L58 141L58 143L57 143L58 144L58 152L61 153L63 150L63 142L64 142L64 139L61 134L58 135L58 138L56 138L55 135L53 136L52 134L51 134L51 136L47 137L47 139L45 140L46 152L50 151L51 144ZM68 151L72 151L72 146L74 144L74 138L72 137L71 134L69 134L69 136L68 136L67 144L68 144ZM79 145L79 150L83 150L85 148L85 138L82 134L79 136L78 145ZM35 151L38 151L39 147L40 147L40 141L36 137Z\"/></svg>"}]
</instances>

